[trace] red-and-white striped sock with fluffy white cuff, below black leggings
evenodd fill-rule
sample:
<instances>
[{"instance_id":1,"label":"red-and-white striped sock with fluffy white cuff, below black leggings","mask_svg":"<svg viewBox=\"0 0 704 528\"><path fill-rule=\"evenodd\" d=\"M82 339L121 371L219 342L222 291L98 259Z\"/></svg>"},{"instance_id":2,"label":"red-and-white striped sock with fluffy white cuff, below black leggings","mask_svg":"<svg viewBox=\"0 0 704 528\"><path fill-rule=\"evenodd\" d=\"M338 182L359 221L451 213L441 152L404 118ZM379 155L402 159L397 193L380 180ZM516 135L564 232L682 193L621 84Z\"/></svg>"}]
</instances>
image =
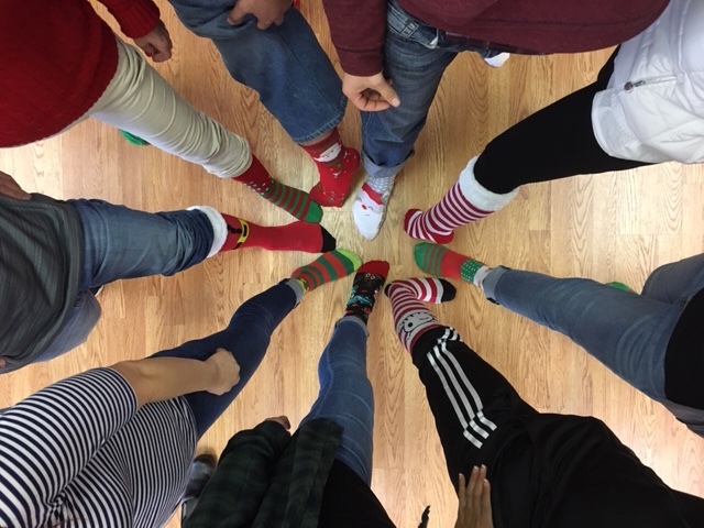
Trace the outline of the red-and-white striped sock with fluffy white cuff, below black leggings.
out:
<instances>
[{"instance_id":1,"label":"red-and-white striped sock with fluffy white cuff, below black leggings","mask_svg":"<svg viewBox=\"0 0 704 528\"><path fill-rule=\"evenodd\" d=\"M499 210L516 196L517 190L499 195L484 188L474 177L476 157L460 174L460 179L442 199L422 212L410 209L404 218L404 230L414 239L441 244L450 242L453 230Z\"/></svg>"}]
</instances>

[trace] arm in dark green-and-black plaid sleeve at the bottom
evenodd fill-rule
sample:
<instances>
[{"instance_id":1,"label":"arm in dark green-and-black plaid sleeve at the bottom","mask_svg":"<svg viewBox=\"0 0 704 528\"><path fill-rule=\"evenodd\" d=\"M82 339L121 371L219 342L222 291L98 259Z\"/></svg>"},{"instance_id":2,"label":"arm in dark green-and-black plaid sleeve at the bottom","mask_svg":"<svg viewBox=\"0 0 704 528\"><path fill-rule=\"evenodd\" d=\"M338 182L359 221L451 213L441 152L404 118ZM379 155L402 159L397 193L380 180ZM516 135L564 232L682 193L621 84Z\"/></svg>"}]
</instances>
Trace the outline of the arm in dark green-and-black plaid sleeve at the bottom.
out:
<instances>
[{"instance_id":1,"label":"arm in dark green-and-black plaid sleeve at the bottom","mask_svg":"<svg viewBox=\"0 0 704 528\"><path fill-rule=\"evenodd\" d=\"M224 521L228 526L251 525L290 440L287 427L286 417L270 418L232 437L185 528L209 528Z\"/></svg>"}]
</instances>

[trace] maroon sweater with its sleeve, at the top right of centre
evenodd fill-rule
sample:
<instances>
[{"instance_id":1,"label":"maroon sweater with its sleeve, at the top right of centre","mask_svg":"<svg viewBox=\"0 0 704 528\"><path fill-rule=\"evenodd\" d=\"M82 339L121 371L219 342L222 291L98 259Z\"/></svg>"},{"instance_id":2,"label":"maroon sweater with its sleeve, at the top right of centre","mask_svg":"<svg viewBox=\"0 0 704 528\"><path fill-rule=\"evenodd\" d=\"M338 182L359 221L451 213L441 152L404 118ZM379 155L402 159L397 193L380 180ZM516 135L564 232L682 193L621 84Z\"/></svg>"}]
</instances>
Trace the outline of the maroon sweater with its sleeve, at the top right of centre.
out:
<instances>
[{"instance_id":1,"label":"maroon sweater with its sleeve, at the top right of centre","mask_svg":"<svg viewBox=\"0 0 704 528\"><path fill-rule=\"evenodd\" d=\"M669 0L398 0L427 24L450 33L537 53L609 47L637 35ZM342 69L383 69L386 0L323 0Z\"/></svg>"}]
</instances>

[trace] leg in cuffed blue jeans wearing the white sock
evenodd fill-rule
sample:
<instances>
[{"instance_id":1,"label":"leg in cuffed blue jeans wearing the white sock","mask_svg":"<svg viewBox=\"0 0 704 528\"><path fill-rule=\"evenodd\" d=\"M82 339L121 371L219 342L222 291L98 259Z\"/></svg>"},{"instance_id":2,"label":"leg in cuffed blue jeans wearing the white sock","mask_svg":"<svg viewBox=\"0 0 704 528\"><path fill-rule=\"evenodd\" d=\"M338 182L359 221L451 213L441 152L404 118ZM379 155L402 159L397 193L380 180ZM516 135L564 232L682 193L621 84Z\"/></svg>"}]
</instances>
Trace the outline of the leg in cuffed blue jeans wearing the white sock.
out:
<instances>
[{"instance_id":1,"label":"leg in cuffed blue jeans wearing the white sock","mask_svg":"<svg viewBox=\"0 0 704 528\"><path fill-rule=\"evenodd\" d=\"M362 158L369 178L352 213L367 239L381 229L395 177L413 155L442 74L457 56L437 47L436 37L435 29L388 4L384 75L394 80L402 103L383 112L362 112Z\"/></svg>"}]
</instances>

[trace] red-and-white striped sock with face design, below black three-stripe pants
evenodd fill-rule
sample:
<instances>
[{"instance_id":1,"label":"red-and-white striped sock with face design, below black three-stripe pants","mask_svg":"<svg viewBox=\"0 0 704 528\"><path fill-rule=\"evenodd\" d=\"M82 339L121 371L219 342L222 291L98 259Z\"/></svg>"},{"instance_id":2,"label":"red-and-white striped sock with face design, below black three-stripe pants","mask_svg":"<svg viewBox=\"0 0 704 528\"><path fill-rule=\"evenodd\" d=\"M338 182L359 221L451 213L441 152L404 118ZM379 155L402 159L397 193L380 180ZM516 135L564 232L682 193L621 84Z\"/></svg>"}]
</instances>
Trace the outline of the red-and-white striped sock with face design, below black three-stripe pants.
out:
<instances>
[{"instance_id":1,"label":"red-and-white striped sock with face design, below black three-stripe pants","mask_svg":"<svg viewBox=\"0 0 704 528\"><path fill-rule=\"evenodd\" d=\"M442 278L407 278L394 280L384 290L392 301L396 334L411 353L418 338L441 324L420 302L446 302L454 299L457 289Z\"/></svg>"}]
</instances>

